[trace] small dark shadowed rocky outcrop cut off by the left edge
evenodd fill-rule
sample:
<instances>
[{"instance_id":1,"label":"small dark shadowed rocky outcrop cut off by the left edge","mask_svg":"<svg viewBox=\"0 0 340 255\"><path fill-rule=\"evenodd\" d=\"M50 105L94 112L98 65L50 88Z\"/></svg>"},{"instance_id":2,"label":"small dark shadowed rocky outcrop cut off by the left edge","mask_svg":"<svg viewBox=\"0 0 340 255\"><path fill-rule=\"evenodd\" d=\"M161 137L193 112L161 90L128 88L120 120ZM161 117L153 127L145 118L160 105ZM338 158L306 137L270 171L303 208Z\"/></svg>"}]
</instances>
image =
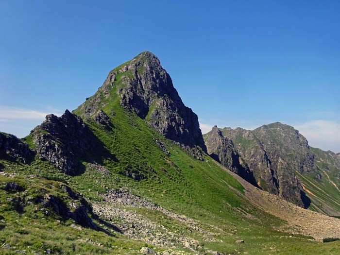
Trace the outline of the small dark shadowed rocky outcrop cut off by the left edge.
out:
<instances>
[{"instance_id":1,"label":"small dark shadowed rocky outcrop cut off by the left edge","mask_svg":"<svg viewBox=\"0 0 340 255\"><path fill-rule=\"evenodd\" d=\"M27 163L34 155L26 143L23 143L17 136L0 133L0 158L19 160Z\"/></svg>"}]
</instances>

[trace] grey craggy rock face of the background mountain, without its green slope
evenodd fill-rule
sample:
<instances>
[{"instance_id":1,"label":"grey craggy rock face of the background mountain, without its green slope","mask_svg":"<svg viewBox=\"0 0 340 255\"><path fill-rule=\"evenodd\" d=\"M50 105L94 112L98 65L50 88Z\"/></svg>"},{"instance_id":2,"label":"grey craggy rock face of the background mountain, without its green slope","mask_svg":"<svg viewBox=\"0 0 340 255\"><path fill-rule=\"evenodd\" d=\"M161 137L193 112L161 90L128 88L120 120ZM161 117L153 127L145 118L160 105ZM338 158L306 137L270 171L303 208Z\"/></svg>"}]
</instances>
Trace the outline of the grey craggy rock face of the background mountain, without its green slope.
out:
<instances>
[{"instance_id":1,"label":"grey craggy rock face of the background mountain, without its green slope","mask_svg":"<svg viewBox=\"0 0 340 255\"><path fill-rule=\"evenodd\" d=\"M209 147L214 148L214 152L219 152L216 146L212 147L211 137L214 137L216 132L213 129L204 135L208 152ZM230 158L238 154L245 165L244 168L253 173L259 187L301 207L309 205L310 201L295 171L314 171L314 155L309 150L306 138L297 130L277 122L261 126L254 131L224 128L220 134L229 138L235 145L235 151L224 150L224 153L217 153L222 164L225 161L230 162ZM221 146L222 143L219 144ZM229 163L223 165L231 170L239 168Z\"/></svg>"}]
</instances>

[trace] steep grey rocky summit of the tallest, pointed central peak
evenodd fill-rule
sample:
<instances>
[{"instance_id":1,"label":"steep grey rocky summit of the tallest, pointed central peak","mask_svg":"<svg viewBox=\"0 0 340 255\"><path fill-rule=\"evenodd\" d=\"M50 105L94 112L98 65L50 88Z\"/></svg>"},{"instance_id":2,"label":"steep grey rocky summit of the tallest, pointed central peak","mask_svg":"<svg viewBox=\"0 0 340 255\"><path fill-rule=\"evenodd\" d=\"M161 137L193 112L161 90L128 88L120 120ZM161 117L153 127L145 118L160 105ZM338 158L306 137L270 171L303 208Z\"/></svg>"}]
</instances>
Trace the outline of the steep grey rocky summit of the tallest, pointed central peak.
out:
<instances>
[{"instance_id":1,"label":"steep grey rocky summit of the tallest, pointed central peak","mask_svg":"<svg viewBox=\"0 0 340 255\"><path fill-rule=\"evenodd\" d=\"M184 105L170 75L153 53L144 51L110 71L102 87L78 107L77 113L85 118L97 113L114 99L114 87L120 105L145 119L160 134L184 146L206 150L197 115Z\"/></svg>"}]
</instances>

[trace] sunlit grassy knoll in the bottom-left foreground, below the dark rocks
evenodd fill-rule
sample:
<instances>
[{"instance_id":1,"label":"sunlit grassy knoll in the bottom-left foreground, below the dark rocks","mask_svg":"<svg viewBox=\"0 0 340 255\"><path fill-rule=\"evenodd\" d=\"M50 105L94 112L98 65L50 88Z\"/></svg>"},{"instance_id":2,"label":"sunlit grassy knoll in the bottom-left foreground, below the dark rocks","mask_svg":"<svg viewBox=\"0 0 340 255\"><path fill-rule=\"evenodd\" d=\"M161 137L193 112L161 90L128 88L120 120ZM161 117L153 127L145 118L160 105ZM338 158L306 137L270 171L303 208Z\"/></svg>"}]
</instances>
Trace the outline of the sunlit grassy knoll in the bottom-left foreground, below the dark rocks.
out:
<instances>
[{"instance_id":1,"label":"sunlit grassy knoll in the bottom-left foreground, below the dark rocks","mask_svg":"<svg viewBox=\"0 0 340 255\"><path fill-rule=\"evenodd\" d=\"M65 185L68 176L58 173L46 162L36 159L32 166L3 160L1 163L6 168L7 176L0 175L0 241L11 245L10 249L1 249L1 254L14 254L16 250L26 250L27 254L44 253L47 249L52 254L107 254L115 250L124 254L130 250L130 246L143 246L143 243L129 240L118 233L108 235L89 228L82 228L82 231L71 228L73 220L63 221L49 209L51 215L45 215L40 210L42 206L34 203L37 196L52 194L65 203L69 202L68 195L59 188L59 185ZM24 189L15 193L7 192L2 188L8 182L15 182ZM95 223L100 224L98 221ZM81 241L86 238L89 239L87 242ZM101 242L102 246L91 241Z\"/></svg>"}]
</instances>

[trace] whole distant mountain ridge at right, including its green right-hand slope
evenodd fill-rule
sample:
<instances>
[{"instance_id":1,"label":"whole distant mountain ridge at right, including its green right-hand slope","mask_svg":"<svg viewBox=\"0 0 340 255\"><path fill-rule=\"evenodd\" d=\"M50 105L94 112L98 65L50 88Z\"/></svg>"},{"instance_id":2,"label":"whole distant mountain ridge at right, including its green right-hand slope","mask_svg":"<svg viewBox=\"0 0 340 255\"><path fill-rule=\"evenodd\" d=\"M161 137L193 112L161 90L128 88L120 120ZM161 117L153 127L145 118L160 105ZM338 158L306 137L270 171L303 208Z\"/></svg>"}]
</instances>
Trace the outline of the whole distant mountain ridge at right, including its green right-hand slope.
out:
<instances>
[{"instance_id":1,"label":"whole distant mountain ridge at right, including its green right-hand slope","mask_svg":"<svg viewBox=\"0 0 340 255\"><path fill-rule=\"evenodd\" d=\"M204 140L209 155L246 180L244 176L251 174L254 179L250 182L255 182L255 186L301 207L308 208L312 200L315 202L312 204L314 209L331 215L339 214L329 208L324 199L306 189L305 183L315 183L320 189L321 179L327 178L324 168L328 167L315 162L321 162L324 155L317 155L315 149L308 146L306 138L293 127L280 122L263 125L253 131L215 126L204 135ZM333 154L329 165L340 169L339 157ZM333 177L339 184L339 178ZM338 186L335 184L334 188Z\"/></svg>"}]
</instances>

